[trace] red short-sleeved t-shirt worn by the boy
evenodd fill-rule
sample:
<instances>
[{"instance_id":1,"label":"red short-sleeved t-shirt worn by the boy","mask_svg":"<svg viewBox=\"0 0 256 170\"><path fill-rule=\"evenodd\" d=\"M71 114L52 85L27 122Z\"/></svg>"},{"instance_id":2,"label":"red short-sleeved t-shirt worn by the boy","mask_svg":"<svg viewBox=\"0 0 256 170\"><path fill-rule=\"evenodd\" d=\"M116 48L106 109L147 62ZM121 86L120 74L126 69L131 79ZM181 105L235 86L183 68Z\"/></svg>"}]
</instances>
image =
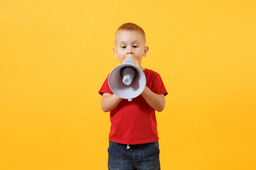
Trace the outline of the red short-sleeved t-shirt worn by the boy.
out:
<instances>
[{"instance_id":1,"label":"red short-sleeved t-shirt worn by the boy","mask_svg":"<svg viewBox=\"0 0 256 170\"><path fill-rule=\"evenodd\" d=\"M156 94L168 93L158 73L145 69L146 86ZM113 94L108 84L108 77L99 93ZM142 95L132 98L132 101L122 99L118 106L110 111L110 136L109 140L122 144L142 144L159 140L156 128L156 115Z\"/></svg>"}]
</instances>

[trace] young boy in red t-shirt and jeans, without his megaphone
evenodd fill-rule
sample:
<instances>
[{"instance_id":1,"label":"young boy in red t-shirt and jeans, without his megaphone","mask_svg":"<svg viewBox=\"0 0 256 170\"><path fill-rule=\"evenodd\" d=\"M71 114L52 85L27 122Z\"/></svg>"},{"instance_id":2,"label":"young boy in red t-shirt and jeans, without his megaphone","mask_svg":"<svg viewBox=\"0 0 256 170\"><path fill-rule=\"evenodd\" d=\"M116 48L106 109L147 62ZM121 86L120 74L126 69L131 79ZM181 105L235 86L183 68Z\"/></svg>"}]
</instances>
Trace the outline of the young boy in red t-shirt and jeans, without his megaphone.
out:
<instances>
[{"instance_id":1,"label":"young boy in red t-shirt and jeans, without his megaphone","mask_svg":"<svg viewBox=\"0 0 256 170\"><path fill-rule=\"evenodd\" d=\"M146 87L132 101L112 93L108 77L99 93L102 95L102 111L110 111L109 169L160 169L159 137L155 111L163 111L168 93L158 73L142 67L146 57L144 30L134 23L124 23L114 38L114 55L122 63L128 54L139 61L139 68L146 76Z\"/></svg>"}]
</instances>

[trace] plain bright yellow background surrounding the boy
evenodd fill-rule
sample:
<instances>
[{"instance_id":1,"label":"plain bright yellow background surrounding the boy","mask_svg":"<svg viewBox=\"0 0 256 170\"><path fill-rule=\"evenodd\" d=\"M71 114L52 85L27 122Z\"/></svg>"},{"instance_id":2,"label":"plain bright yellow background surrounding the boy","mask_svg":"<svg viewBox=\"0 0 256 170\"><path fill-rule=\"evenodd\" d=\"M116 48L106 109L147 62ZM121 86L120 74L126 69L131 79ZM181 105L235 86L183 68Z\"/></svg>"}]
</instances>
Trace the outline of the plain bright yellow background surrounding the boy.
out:
<instances>
[{"instance_id":1,"label":"plain bright yellow background surrounding the boy","mask_svg":"<svg viewBox=\"0 0 256 170\"><path fill-rule=\"evenodd\" d=\"M161 168L256 169L255 1L1 1L0 169L107 169L114 33L146 32L169 95Z\"/></svg>"}]
</instances>

